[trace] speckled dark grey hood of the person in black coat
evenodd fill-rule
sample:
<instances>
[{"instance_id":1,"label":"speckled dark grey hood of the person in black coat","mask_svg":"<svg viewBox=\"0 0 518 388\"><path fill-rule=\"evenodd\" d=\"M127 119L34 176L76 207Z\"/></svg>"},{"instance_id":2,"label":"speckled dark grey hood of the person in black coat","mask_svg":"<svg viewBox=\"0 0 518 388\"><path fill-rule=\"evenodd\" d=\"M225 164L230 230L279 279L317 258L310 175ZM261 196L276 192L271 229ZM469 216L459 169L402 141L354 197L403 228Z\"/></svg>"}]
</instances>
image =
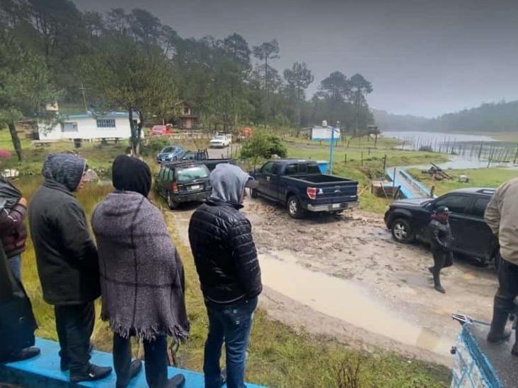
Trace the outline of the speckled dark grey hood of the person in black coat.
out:
<instances>
[{"instance_id":1,"label":"speckled dark grey hood of the person in black coat","mask_svg":"<svg viewBox=\"0 0 518 388\"><path fill-rule=\"evenodd\" d=\"M62 184L75 192L86 170L86 160L70 153L50 153L43 163L45 180Z\"/></svg>"}]
</instances>

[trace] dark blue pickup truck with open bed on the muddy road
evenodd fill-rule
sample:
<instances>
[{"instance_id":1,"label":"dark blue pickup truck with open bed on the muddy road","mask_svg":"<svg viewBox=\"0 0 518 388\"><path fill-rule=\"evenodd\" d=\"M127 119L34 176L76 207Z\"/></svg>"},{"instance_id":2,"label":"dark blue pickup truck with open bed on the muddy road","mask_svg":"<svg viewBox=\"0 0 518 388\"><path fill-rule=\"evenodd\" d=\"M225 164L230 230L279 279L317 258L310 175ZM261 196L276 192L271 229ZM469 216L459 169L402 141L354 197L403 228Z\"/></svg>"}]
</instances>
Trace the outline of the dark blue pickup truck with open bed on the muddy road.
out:
<instances>
[{"instance_id":1,"label":"dark blue pickup truck with open bed on the muddy road","mask_svg":"<svg viewBox=\"0 0 518 388\"><path fill-rule=\"evenodd\" d=\"M358 204L358 182L322 174L312 160L270 160L251 175L259 181L251 196L287 206L293 218L306 211L339 213Z\"/></svg>"}]
</instances>

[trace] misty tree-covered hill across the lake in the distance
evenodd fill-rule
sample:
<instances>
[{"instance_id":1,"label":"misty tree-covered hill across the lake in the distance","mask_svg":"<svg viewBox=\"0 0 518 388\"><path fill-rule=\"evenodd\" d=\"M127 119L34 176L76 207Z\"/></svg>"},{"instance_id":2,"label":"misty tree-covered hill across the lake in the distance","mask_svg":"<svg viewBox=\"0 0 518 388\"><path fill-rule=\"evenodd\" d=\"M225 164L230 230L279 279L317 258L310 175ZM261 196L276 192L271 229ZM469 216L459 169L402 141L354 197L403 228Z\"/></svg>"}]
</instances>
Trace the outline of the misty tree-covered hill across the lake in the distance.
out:
<instances>
[{"instance_id":1,"label":"misty tree-covered hill across the lake in the distance","mask_svg":"<svg viewBox=\"0 0 518 388\"><path fill-rule=\"evenodd\" d=\"M485 103L479 107L443 114L434 119L372 110L381 131L518 131L518 101Z\"/></svg>"}]
</instances>

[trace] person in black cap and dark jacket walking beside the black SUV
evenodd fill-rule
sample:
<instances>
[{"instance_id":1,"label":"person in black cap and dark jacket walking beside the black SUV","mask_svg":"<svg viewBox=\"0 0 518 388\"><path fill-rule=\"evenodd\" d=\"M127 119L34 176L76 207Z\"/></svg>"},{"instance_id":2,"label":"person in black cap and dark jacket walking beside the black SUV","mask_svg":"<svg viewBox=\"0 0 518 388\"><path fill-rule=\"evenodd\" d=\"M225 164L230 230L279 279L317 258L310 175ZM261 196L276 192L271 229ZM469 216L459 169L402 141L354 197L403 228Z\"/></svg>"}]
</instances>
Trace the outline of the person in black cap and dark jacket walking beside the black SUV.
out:
<instances>
[{"instance_id":1,"label":"person in black cap and dark jacket walking beside the black SUV","mask_svg":"<svg viewBox=\"0 0 518 388\"><path fill-rule=\"evenodd\" d=\"M431 249L434 257L434 266L428 270L434 277L434 288L439 293L446 293L441 285L441 270L453 265L453 252L451 243L453 235L449 226L449 209L446 206L439 206L432 214L430 221Z\"/></svg>"}]
</instances>

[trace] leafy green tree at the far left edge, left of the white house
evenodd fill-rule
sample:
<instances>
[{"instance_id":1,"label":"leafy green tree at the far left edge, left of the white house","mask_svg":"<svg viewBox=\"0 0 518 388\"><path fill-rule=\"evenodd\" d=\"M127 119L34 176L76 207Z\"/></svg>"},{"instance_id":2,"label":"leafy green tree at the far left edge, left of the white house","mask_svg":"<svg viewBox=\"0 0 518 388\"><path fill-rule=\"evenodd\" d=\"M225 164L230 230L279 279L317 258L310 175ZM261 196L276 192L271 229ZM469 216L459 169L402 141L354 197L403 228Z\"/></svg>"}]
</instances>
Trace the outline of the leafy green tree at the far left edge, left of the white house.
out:
<instances>
[{"instance_id":1,"label":"leafy green tree at the far left edge, left of the white house","mask_svg":"<svg viewBox=\"0 0 518 388\"><path fill-rule=\"evenodd\" d=\"M1 31L0 127L8 127L18 160L23 153L15 123L23 117L45 119L46 105L56 102L60 94L50 83L45 61Z\"/></svg>"}]
</instances>

